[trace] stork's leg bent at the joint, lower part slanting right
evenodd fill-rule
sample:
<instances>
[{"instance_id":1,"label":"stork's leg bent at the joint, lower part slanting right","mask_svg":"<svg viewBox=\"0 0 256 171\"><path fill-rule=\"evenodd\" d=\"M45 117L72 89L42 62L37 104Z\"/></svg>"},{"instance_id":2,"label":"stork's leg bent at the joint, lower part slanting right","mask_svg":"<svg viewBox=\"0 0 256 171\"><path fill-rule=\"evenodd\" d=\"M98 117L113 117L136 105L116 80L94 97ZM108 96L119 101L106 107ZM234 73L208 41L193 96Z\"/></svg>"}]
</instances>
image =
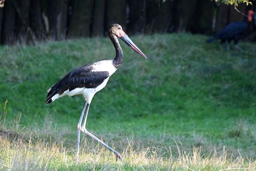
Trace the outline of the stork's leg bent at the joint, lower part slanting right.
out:
<instances>
[{"instance_id":1,"label":"stork's leg bent at the joint, lower part slanting right","mask_svg":"<svg viewBox=\"0 0 256 171\"><path fill-rule=\"evenodd\" d=\"M97 142L101 143L102 145L104 145L107 149L109 149L111 152L113 152L116 155L116 158L122 160L121 155L119 153L117 153L114 149L112 149L111 147L109 147L109 145L107 145L106 143L104 143L102 140L100 140L99 138L97 138L95 135L93 135L92 133L88 132L88 130L86 130L86 120L87 120L87 115L88 115L88 110L89 110L89 106L90 104L87 103L86 104L86 112L85 112L85 117L83 118L83 125L82 125L82 132L89 135L91 138L97 140Z\"/></svg>"}]
</instances>

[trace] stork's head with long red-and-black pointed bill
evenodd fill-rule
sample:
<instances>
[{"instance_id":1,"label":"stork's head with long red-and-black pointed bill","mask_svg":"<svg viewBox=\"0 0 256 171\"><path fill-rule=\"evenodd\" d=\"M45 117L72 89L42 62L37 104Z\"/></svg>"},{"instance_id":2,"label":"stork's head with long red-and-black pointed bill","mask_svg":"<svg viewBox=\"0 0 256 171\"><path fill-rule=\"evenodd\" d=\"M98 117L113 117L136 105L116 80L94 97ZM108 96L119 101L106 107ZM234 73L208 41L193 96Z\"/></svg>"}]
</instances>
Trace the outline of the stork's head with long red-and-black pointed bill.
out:
<instances>
[{"instance_id":1,"label":"stork's head with long red-and-black pointed bill","mask_svg":"<svg viewBox=\"0 0 256 171\"><path fill-rule=\"evenodd\" d=\"M122 41L124 41L128 46L132 48L135 52L139 53L142 57L147 58L144 53L140 51L140 49L131 41L131 39L127 36L127 34L122 30L122 27L119 24L112 24L109 29L109 35L114 34L116 37L119 37Z\"/></svg>"}]
</instances>

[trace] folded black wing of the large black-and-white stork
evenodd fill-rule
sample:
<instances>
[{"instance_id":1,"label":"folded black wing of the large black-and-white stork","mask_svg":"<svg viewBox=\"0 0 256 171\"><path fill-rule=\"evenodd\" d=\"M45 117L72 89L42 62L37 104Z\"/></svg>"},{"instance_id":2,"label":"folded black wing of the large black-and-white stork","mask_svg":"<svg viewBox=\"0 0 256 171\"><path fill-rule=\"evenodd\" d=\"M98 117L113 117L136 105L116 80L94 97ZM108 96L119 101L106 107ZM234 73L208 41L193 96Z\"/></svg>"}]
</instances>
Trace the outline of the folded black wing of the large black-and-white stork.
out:
<instances>
[{"instance_id":1,"label":"folded black wing of the large black-and-white stork","mask_svg":"<svg viewBox=\"0 0 256 171\"><path fill-rule=\"evenodd\" d=\"M84 66L80 68L76 68L70 73L68 73L65 77L63 77L60 81L54 84L50 91L47 94L46 104L51 103L51 98L55 94L63 94L66 90L73 90L75 88L96 88L99 86L104 80L109 77L109 72L100 71L93 72L92 66Z\"/></svg>"}]
</instances>

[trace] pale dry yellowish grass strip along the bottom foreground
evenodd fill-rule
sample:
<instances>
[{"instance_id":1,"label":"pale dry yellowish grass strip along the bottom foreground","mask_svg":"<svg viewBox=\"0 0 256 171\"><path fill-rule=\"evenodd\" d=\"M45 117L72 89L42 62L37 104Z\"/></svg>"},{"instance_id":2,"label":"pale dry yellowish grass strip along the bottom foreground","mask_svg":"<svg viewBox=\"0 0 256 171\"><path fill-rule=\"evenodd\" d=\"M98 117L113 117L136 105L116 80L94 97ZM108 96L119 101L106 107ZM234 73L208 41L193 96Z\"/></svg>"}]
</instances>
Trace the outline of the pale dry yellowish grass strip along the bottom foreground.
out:
<instances>
[{"instance_id":1,"label":"pale dry yellowish grass strip along the bottom foreground","mask_svg":"<svg viewBox=\"0 0 256 171\"><path fill-rule=\"evenodd\" d=\"M30 133L28 134L28 132ZM27 135L32 136L29 137ZM75 144L69 144L67 146L65 145L65 140L57 143L54 139L49 140L48 138L43 138L47 136L39 139L39 137L35 138L34 135L35 132L28 129L23 129L23 135L1 130L0 169L256 169L255 160L244 157L234 158L225 147L221 152L217 151L216 148L212 148L208 154L202 153L200 147L194 147L192 152L189 153L182 149L180 143L176 143L175 151L178 150L178 154L174 154L174 149L166 145L163 145L161 148L147 147L141 150L135 150L134 146L136 142L132 139L127 140L127 146L122 152L122 157L124 158L122 162L116 162L114 155L105 148L102 148L101 145L95 145L95 143L88 143L87 141L84 141L81 145L80 161L77 162L75 158ZM209 152L210 149L207 150Z\"/></svg>"}]
</instances>

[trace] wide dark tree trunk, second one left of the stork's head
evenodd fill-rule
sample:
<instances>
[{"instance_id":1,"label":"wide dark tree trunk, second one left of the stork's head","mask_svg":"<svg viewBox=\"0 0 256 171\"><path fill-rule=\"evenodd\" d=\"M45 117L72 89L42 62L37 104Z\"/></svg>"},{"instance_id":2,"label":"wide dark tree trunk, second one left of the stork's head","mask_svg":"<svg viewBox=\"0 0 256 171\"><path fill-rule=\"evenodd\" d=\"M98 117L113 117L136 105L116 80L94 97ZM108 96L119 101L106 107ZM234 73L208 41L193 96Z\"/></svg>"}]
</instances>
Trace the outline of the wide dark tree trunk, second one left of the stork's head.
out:
<instances>
[{"instance_id":1,"label":"wide dark tree trunk, second one left of the stork's head","mask_svg":"<svg viewBox=\"0 0 256 171\"><path fill-rule=\"evenodd\" d=\"M68 37L90 36L92 0L73 0L71 8Z\"/></svg>"}]
</instances>

